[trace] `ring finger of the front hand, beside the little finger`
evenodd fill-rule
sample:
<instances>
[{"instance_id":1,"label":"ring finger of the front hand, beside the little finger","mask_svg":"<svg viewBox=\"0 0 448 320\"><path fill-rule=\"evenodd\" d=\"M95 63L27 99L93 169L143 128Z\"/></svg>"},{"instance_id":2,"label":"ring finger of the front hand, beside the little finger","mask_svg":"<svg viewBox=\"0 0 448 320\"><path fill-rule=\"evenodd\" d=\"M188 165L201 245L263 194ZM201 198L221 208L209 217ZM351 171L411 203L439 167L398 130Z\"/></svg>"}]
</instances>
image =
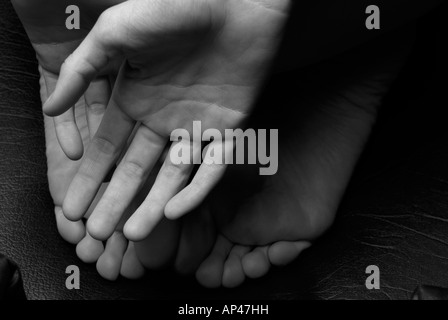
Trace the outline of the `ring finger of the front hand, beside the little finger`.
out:
<instances>
[{"instance_id":1,"label":"ring finger of the front hand, beside the little finger","mask_svg":"<svg viewBox=\"0 0 448 320\"><path fill-rule=\"evenodd\" d=\"M173 162L172 157L165 158L151 191L125 225L124 234L128 239L141 241L146 238L162 219L168 201L187 184L194 167L192 159L196 153L200 153L201 148L189 140L181 140L171 145L168 154L173 154L177 149L188 152L189 161Z\"/></svg>"}]
</instances>

